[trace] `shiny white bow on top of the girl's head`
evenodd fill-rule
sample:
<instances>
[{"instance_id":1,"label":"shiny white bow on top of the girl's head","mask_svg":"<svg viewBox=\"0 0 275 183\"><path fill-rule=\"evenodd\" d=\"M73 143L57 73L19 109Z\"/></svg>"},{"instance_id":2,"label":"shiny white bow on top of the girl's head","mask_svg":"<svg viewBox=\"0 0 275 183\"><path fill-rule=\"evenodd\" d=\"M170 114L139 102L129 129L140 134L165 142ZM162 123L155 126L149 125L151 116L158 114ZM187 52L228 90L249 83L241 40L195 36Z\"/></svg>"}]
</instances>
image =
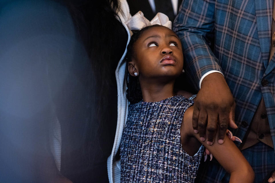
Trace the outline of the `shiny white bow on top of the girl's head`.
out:
<instances>
[{"instance_id":1,"label":"shiny white bow on top of the girl's head","mask_svg":"<svg viewBox=\"0 0 275 183\"><path fill-rule=\"evenodd\" d=\"M125 22L125 24L129 28L131 35L133 34L131 30L140 30L140 29L143 29L144 27L148 27L156 24L172 29L172 22L163 13L157 13L156 16L151 21L149 21L147 18L144 17L142 11L139 11L135 15L133 15L131 18L129 18Z\"/></svg>"}]
</instances>

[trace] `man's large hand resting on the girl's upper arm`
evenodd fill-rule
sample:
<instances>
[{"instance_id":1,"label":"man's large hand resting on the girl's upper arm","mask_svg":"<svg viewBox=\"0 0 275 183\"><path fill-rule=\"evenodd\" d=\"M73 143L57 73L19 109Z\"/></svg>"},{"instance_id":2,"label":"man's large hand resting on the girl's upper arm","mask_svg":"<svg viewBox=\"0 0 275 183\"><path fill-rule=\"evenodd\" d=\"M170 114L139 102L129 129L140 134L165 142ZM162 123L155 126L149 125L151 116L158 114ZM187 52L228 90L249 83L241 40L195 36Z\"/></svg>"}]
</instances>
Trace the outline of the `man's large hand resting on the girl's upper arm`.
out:
<instances>
[{"instance_id":1,"label":"man's large hand resting on the girl's upper arm","mask_svg":"<svg viewBox=\"0 0 275 183\"><path fill-rule=\"evenodd\" d=\"M221 73L207 75L202 83L194 103L192 124L201 141L207 139L212 145L218 130L218 142L223 143L228 124L235 124L235 102L231 91Z\"/></svg>"}]
</instances>

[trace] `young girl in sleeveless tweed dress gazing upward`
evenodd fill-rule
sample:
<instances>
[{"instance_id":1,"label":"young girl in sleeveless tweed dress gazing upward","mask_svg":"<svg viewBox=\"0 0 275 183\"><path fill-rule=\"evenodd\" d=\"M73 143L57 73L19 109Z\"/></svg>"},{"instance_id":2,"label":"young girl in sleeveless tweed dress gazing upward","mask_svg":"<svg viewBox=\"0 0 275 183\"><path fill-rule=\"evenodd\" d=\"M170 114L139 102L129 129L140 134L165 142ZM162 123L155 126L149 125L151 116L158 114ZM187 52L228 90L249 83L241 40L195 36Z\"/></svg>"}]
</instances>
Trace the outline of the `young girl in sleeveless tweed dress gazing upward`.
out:
<instances>
[{"instance_id":1,"label":"young girl in sleeveless tweed dress gazing upward","mask_svg":"<svg viewBox=\"0 0 275 183\"><path fill-rule=\"evenodd\" d=\"M172 30L153 25L134 33L126 60L131 104L120 144L122 183L194 182L203 146L231 174L231 183L253 182L251 166L229 138L209 146L194 133L195 96L174 91L183 54Z\"/></svg>"}]
</instances>

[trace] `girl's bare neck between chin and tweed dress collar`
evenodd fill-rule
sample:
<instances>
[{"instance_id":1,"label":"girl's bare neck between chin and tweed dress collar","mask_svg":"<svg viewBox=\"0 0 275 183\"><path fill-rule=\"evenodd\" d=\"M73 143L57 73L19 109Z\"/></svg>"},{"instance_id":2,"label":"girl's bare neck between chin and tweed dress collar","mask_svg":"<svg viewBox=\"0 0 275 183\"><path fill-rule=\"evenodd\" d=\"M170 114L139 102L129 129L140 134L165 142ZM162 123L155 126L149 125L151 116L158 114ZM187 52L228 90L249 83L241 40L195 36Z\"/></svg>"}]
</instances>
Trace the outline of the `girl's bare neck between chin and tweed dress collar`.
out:
<instances>
[{"instance_id":1,"label":"girl's bare neck between chin and tweed dress collar","mask_svg":"<svg viewBox=\"0 0 275 183\"><path fill-rule=\"evenodd\" d=\"M141 82L140 86L144 102L158 102L176 95L174 93L174 82Z\"/></svg>"}]
</instances>

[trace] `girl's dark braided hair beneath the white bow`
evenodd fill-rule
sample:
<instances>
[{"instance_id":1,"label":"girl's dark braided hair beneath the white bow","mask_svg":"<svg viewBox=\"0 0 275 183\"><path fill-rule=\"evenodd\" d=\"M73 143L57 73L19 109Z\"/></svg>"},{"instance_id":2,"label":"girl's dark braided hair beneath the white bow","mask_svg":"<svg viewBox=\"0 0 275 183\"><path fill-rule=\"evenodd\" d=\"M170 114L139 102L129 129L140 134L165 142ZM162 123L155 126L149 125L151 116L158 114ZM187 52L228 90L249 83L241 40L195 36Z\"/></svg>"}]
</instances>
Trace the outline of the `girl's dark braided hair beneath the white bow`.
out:
<instances>
[{"instance_id":1,"label":"girl's dark braided hair beneath the white bow","mask_svg":"<svg viewBox=\"0 0 275 183\"><path fill-rule=\"evenodd\" d=\"M126 96L131 104L135 104L142 100L142 91L140 88L140 82L138 80L138 77L131 76L128 71L128 62L131 61L132 57L135 56L134 49L135 49L135 42L137 41L137 39L139 39L140 36L146 30L148 30L152 27L162 27L162 25L151 25L148 27L144 27L141 30L134 30L133 35L130 39L130 42L127 46L127 53L125 56L125 60L126 60L126 64L127 64L126 65L126 85L127 85Z\"/></svg>"}]
</instances>

